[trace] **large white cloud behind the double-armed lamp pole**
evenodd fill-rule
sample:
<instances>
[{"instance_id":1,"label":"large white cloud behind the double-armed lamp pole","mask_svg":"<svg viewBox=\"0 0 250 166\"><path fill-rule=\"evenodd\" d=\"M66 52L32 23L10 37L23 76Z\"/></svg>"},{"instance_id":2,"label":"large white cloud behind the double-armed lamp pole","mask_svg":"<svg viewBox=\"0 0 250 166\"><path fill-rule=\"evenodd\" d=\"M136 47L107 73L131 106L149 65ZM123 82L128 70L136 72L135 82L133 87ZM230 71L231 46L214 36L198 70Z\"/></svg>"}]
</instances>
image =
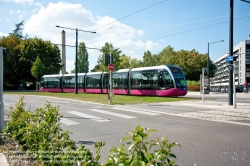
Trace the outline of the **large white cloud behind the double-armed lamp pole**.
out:
<instances>
[{"instance_id":1,"label":"large white cloud behind the double-armed lamp pole","mask_svg":"<svg viewBox=\"0 0 250 166\"><path fill-rule=\"evenodd\" d=\"M52 43L60 44L63 29L56 28L56 25L87 31L94 30L96 34L79 31L78 42L85 42L87 47L92 48L101 48L105 42L109 42L115 48L120 48L126 55L138 59L143 56L143 52L147 51L147 49L158 47L158 44L152 41L143 42L139 40L144 34L143 30L136 30L121 22L114 21L115 19L110 16L94 16L91 11L86 10L81 4L49 3L47 7L41 7L25 22L23 33L27 33L30 37L37 36L44 40L50 40ZM105 26L110 22L114 23ZM64 30L66 44L75 45L76 31ZM70 47L67 47L66 50L66 70L70 72L70 70L74 69L75 50ZM93 69L97 64L100 52L97 50L88 50L88 52L90 55L90 69Z\"/></svg>"}]
</instances>

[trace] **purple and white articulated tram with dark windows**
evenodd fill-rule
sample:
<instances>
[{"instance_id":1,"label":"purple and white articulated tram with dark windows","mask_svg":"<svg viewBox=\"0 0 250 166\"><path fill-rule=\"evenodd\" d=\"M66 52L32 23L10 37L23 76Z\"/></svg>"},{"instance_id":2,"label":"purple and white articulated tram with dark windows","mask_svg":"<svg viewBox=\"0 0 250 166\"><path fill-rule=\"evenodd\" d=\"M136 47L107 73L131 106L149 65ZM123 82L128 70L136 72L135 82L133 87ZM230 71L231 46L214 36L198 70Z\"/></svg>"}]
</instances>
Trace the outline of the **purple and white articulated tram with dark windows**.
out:
<instances>
[{"instance_id":1,"label":"purple and white articulated tram with dark windows","mask_svg":"<svg viewBox=\"0 0 250 166\"><path fill-rule=\"evenodd\" d=\"M120 69L112 73L112 87L124 95L185 96L188 91L182 69L174 65ZM108 93L108 88L108 73L78 73L79 93ZM74 92L75 74L44 75L40 91Z\"/></svg>"}]
</instances>

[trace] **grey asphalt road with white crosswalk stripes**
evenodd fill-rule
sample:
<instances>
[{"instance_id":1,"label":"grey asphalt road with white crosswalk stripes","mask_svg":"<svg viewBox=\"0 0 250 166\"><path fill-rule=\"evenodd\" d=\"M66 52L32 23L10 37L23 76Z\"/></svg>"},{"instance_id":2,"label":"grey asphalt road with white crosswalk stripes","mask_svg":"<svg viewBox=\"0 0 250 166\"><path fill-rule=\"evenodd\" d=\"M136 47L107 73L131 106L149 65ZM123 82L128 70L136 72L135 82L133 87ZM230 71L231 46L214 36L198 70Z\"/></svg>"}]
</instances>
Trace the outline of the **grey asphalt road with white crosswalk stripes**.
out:
<instances>
[{"instance_id":1,"label":"grey asphalt road with white crosswalk stripes","mask_svg":"<svg viewBox=\"0 0 250 166\"><path fill-rule=\"evenodd\" d=\"M53 105L59 105L60 113L64 115L61 121L62 127L73 133L71 138L77 144L83 143L88 148L94 149L95 141L106 142L106 146L101 150L102 163L107 160L109 149L121 145L120 139L126 135L126 132L141 125L157 130L156 133L152 133L151 139L166 135L170 142L181 144L181 147L174 148L174 153L177 155L176 162L180 166L191 166L194 163L197 166L249 166L250 94L237 94L239 109L233 111L234 114L230 115L229 120L213 119L221 116L214 111L218 113L221 109L232 109L232 106L228 106L227 103L228 94L210 93L205 95L205 102L201 101L199 93L191 92L186 97L200 99L110 106L25 96L25 103L26 108L30 110L43 107L47 100ZM9 107L14 106L19 98L19 95L4 95L6 119ZM242 108L244 114L241 114ZM196 113L206 113L206 116L209 114L212 118L196 117Z\"/></svg>"}]
</instances>

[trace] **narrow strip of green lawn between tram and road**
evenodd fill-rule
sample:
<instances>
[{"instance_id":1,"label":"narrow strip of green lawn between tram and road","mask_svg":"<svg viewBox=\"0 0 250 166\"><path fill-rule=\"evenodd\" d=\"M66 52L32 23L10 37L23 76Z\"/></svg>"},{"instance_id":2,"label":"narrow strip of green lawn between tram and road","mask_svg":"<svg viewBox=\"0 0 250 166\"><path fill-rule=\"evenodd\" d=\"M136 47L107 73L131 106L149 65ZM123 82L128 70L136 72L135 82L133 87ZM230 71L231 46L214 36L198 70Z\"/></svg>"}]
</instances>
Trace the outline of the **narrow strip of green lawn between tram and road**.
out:
<instances>
[{"instance_id":1,"label":"narrow strip of green lawn between tram and road","mask_svg":"<svg viewBox=\"0 0 250 166\"><path fill-rule=\"evenodd\" d=\"M50 96L58 98L66 98L72 100L88 101L95 103L108 104L107 94L86 94L86 93L48 93L48 92L4 92L4 94L17 94L17 95L39 95ZM189 98L190 99L190 98ZM173 102L189 100L183 97L155 97L155 96L126 96L115 95L112 97L112 104L143 104L143 103L156 103L156 102Z\"/></svg>"}]
</instances>

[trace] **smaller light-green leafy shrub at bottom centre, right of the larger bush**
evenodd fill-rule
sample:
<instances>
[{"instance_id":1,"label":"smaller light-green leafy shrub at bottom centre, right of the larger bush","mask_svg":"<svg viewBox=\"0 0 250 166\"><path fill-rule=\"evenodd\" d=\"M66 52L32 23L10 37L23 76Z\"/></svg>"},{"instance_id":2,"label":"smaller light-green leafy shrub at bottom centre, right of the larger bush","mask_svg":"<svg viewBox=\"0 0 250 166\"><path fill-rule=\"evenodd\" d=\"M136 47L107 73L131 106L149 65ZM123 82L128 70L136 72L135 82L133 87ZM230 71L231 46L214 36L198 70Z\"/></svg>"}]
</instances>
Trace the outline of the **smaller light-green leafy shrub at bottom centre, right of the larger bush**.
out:
<instances>
[{"instance_id":1,"label":"smaller light-green leafy shrub at bottom centre, right of the larger bush","mask_svg":"<svg viewBox=\"0 0 250 166\"><path fill-rule=\"evenodd\" d=\"M110 150L112 153L109 156L106 165L121 166L173 166L175 161L171 158L176 158L172 153L172 148L178 143L168 143L166 137L161 139L147 141L149 133L155 132L155 129L148 129L137 126L134 131L128 132L129 136L124 137L121 141L130 139L130 142L122 144L120 148L114 147ZM125 146L129 146L128 149ZM155 150L151 150L154 147ZM157 149L158 148L158 149Z\"/></svg>"}]
</instances>

